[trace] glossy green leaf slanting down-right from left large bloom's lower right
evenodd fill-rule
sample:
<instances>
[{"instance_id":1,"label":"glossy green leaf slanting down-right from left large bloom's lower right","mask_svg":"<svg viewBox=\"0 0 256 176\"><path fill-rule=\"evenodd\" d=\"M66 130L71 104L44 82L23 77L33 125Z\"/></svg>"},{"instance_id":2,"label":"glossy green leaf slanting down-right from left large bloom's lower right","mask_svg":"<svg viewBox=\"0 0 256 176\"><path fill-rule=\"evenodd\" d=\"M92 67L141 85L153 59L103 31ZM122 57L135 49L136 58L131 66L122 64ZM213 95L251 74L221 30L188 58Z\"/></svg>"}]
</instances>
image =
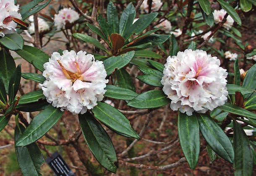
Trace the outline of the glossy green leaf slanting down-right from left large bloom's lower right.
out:
<instances>
[{"instance_id":1,"label":"glossy green leaf slanting down-right from left large bloom's lower right","mask_svg":"<svg viewBox=\"0 0 256 176\"><path fill-rule=\"evenodd\" d=\"M107 127L120 135L139 139L139 135L131 127L128 119L117 109L107 103L98 102L92 109L94 116Z\"/></svg>"}]
</instances>

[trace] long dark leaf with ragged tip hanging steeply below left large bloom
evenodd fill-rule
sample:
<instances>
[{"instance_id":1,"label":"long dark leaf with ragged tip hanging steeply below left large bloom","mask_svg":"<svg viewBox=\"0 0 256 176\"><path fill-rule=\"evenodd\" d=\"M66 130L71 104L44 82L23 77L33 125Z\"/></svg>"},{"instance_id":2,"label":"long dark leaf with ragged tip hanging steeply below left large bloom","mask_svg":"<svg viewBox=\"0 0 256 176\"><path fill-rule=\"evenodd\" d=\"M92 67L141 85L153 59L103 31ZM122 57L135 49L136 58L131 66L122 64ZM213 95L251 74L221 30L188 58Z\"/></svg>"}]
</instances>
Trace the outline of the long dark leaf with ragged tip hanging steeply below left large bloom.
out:
<instances>
[{"instance_id":1,"label":"long dark leaf with ragged tip hanging steeply below left large bloom","mask_svg":"<svg viewBox=\"0 0 256 176\"><path fill-rule=\"evenodd\" d=\"M84 139L91 153L104 168L115 173L117 170L115 164L118 159L107 132L89 112L79 114L78 117Z\"/></svg>"}]
</instances>

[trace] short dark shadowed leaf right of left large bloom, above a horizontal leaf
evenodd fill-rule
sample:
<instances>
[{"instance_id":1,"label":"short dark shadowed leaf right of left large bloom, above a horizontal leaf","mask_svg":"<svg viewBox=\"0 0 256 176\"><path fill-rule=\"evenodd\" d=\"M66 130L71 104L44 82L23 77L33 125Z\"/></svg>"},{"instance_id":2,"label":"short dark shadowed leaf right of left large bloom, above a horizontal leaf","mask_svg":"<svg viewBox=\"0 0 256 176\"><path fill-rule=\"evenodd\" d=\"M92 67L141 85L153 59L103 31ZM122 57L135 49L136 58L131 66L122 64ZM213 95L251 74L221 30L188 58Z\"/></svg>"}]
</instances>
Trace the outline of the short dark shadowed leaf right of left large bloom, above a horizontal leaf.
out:
<instances>
[{"instance_id":1,"label":"short dark shadowed leaf right of left large bloom, above a horizontal leaf","mask_svg":"<svg viewBox=\"0 0 256 176\"><path fill-rule=\"evenodd\" d=\"M127 88L135 92L135 86L134 86L133 80L129 75L129 73L124 68L116 70L115 77L118 80L119 87Z\"/></svg>"}]
</instances>

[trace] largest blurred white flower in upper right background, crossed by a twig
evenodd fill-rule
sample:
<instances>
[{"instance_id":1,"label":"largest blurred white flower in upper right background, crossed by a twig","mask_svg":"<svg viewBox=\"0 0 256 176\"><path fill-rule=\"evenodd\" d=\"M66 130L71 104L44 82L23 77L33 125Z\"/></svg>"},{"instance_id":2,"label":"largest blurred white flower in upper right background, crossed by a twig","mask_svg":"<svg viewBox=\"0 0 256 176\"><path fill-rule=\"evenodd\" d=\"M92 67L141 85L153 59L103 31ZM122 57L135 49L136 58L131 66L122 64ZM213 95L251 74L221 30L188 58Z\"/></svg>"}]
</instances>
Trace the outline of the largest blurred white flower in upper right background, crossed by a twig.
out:
<instances>
[{"instance_id":1,"label":"largest blurred white flower in upper right background, crossed by a twig","mask_svg":"<svg viewBox=\"0 0 256 176\"><path fill-rule=\"evenodd\" d=\"M215 22L216 24L217 24L217 23L220 23L220 22L223 20L223 18L224 18L224 16L226 15L226 13L227 13L227 12L226 12L224 9L221 9L221 10L214 10L214 12L213 12L214 22ZM233 18L232 18L230 15L228 15L228 16L227 16L227 21L223 24L223 26L224 26L227 30L229 30L229 29L232 27L233 23L234 23Z\"/></svg>"}]
</instances>

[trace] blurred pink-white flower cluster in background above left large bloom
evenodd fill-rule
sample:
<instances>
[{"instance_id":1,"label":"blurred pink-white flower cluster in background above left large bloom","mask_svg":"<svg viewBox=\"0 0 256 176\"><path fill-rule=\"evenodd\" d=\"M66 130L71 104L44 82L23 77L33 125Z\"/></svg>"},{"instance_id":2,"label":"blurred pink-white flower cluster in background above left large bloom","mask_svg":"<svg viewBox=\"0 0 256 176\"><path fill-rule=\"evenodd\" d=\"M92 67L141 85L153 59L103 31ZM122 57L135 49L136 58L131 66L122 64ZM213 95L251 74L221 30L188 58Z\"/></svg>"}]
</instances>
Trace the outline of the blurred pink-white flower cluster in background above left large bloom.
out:
<instances>
[{"instance_id":1,"label":"blurred pink-white flower cluster in background above left large bloom","mask_svg":"<svg viewBox=\"0 0 256 176\"><path fill-rule=\"evenodd\" d=\"M79 14L71 8L63 8L58 14L54 15L54 26L57 30L62 29L66 23L74 23L78 20Z\"/></svg>"}]
</instances>

